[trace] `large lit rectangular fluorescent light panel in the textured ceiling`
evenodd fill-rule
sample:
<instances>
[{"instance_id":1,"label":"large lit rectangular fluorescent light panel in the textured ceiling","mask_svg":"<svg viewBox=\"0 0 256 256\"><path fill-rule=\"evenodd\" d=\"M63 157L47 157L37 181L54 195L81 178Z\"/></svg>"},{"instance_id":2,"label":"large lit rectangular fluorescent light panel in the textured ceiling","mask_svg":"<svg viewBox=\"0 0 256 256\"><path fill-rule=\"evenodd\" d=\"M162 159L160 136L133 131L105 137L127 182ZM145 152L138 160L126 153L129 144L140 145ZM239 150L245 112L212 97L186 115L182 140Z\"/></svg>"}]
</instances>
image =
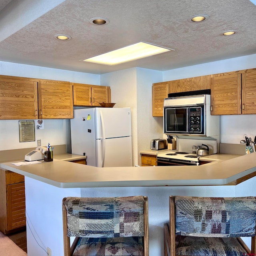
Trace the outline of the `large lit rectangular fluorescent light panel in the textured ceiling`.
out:
<instances>
[{"instance_id":1,"label":"large lit rectangular fluorescent light panel in the textured ceiling","mask_svg":"<svg viewBox=\"0 0 256 256\"><path fill-rule=\"evenodd\" d=\"M138 42L136 44L128 45L111 52L106 52L104 54L100 54L98 56L88 58L83 61L105 65L116 65L123 62L138 60L140 58L168 52L170 50L172 49L163 48L145 42Z\"/></svg>"}]
</instances>

